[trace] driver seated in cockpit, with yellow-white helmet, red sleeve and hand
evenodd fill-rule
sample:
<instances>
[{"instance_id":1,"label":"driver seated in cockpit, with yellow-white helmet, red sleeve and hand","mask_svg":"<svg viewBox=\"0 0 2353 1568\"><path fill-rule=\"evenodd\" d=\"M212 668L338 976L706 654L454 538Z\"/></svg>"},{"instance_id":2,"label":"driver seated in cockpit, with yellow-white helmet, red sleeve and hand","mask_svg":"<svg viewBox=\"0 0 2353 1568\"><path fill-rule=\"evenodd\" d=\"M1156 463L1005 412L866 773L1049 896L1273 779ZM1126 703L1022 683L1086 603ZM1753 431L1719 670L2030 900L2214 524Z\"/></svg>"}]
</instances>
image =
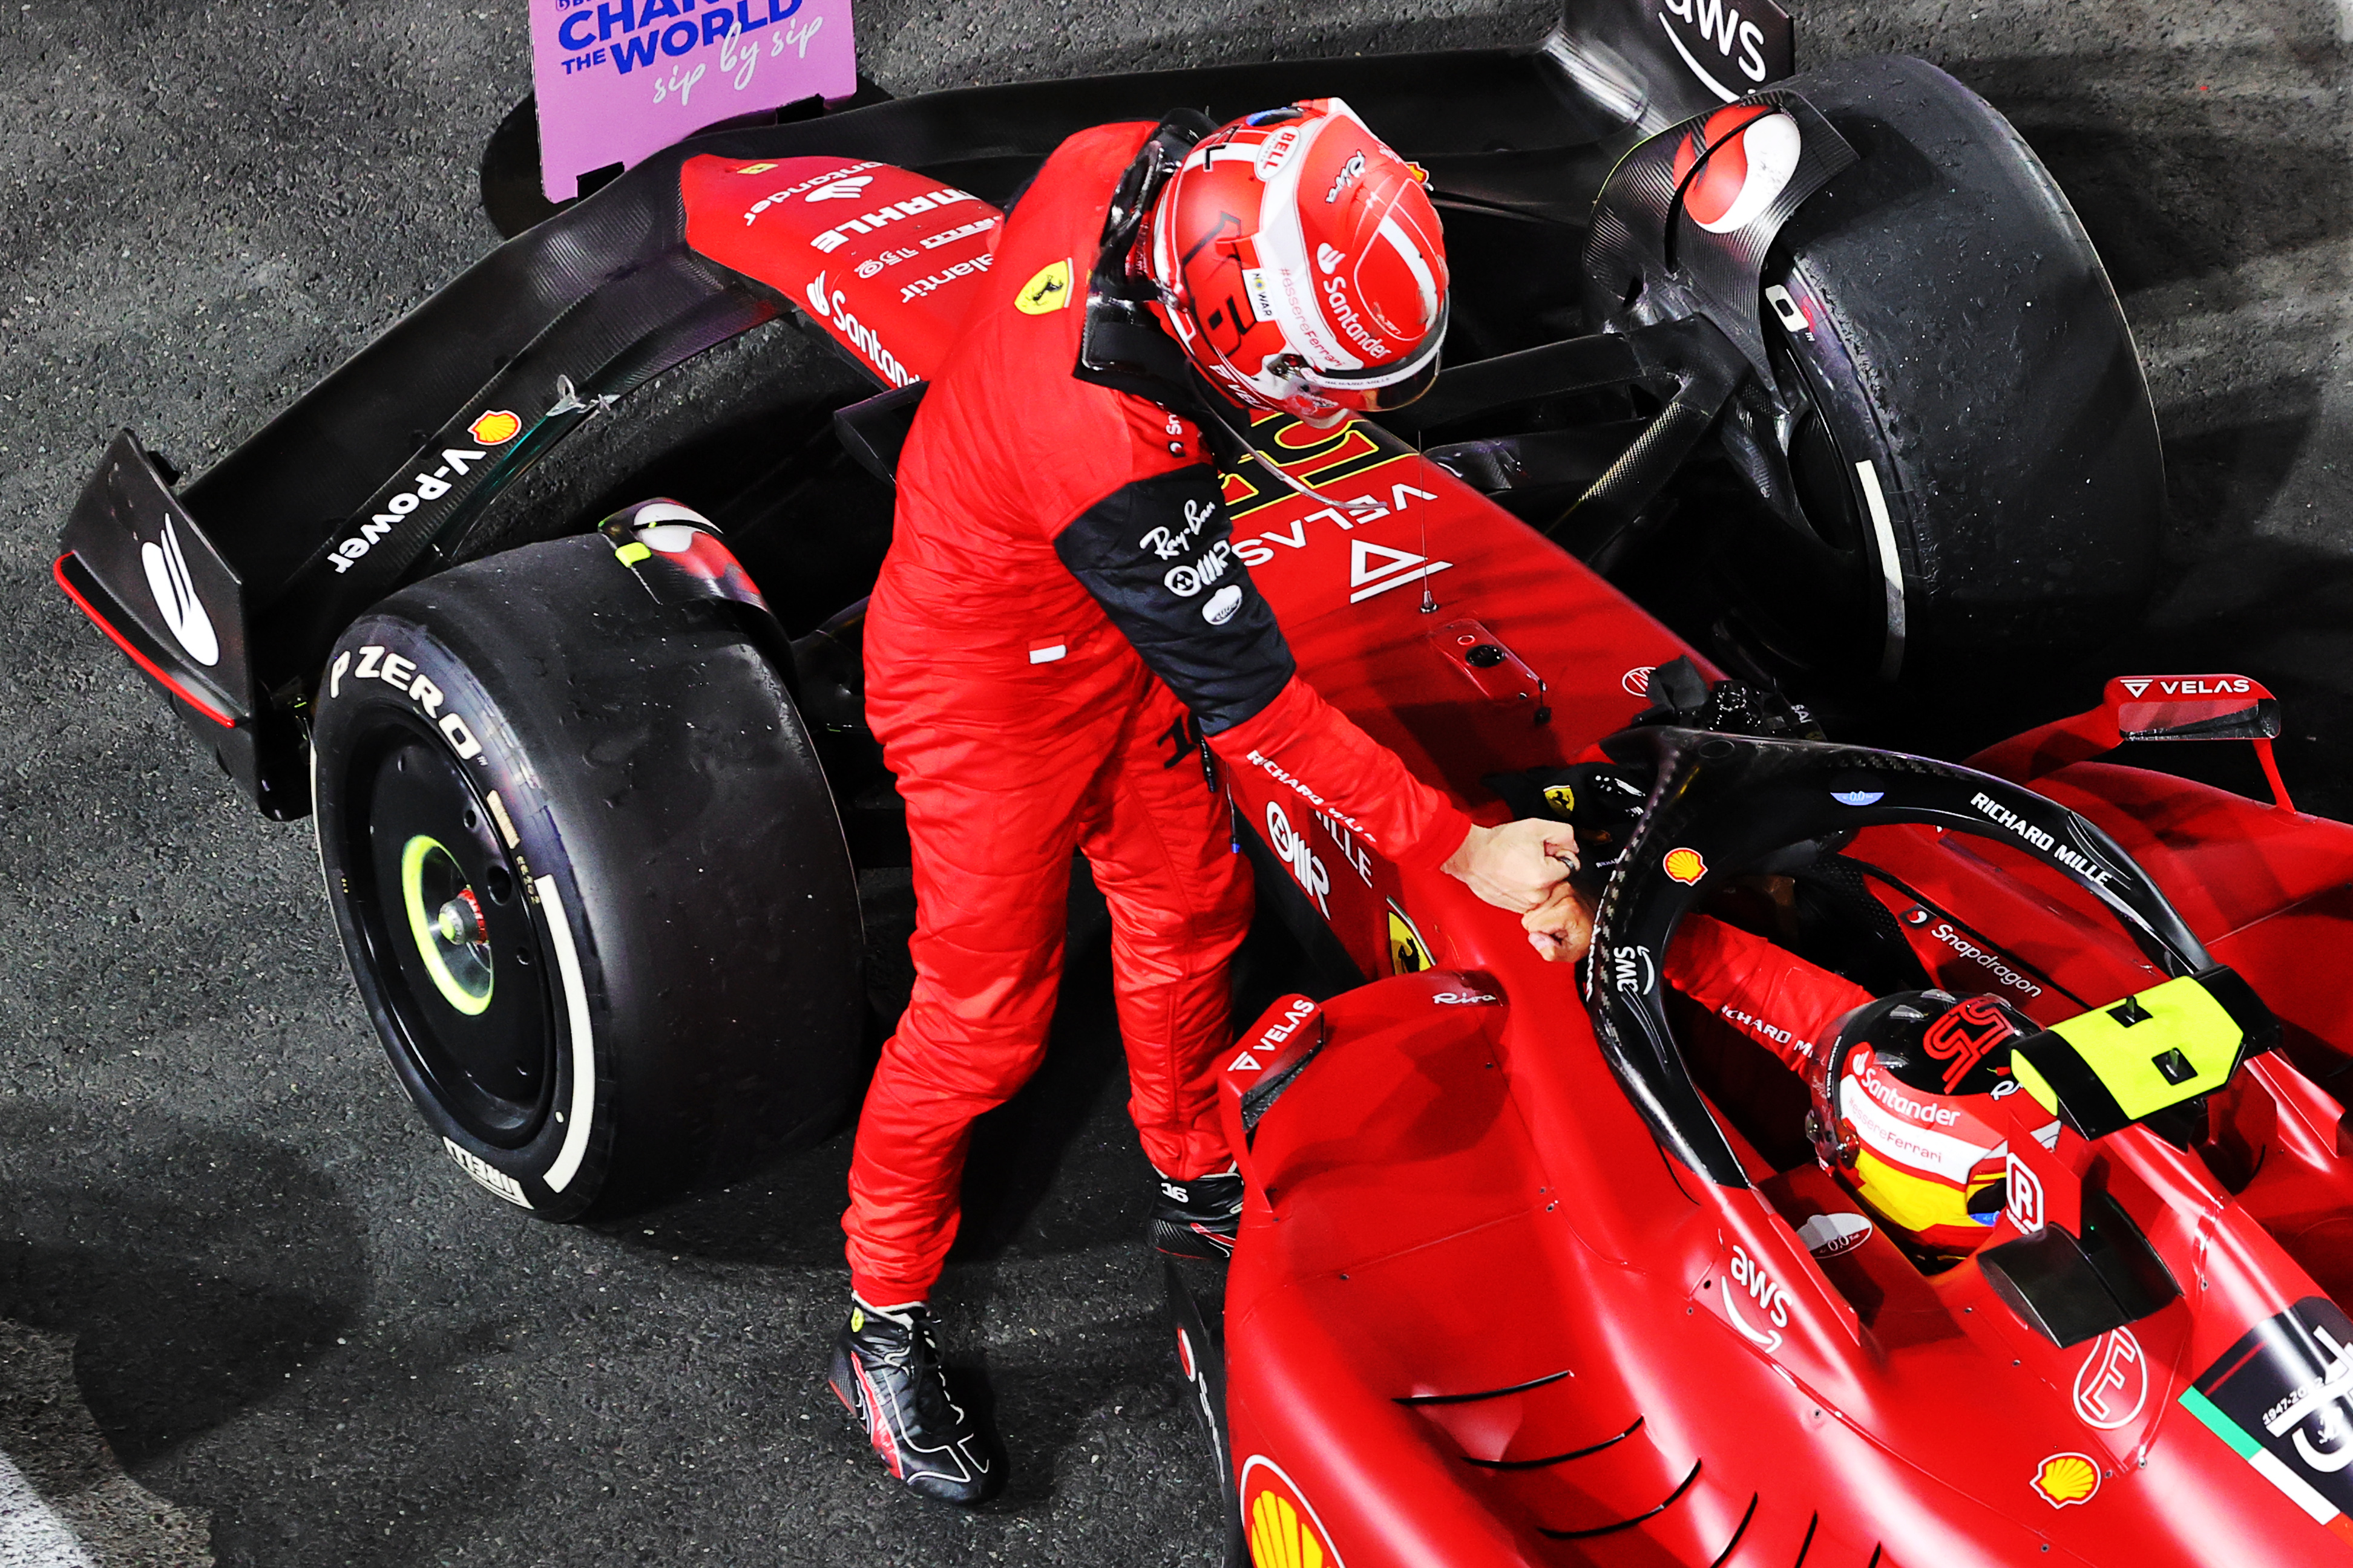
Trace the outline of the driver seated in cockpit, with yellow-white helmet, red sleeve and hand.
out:
<instances>
[{"instance_id":1,"label":"driver seated in cockpit, with yellow-white helmet, red sleeve and hand","mask_svg":"<svg viewBox=\"0 0 2353 1568\"><path fill-rule=\"evenodd\" d=\"M1593 940L1569 886L1522 926L1555 961L1581 959ZM1941 990L1875 997L1706 914L1678 926L1666 980L1805 1079L1814 1152L1875 1222L1944 1258L1991 1234L2012 1126L1998 1103L2019 1088L2009 1041L2038 1030L2024 1013Z\"/></svg>"}]
</instances>

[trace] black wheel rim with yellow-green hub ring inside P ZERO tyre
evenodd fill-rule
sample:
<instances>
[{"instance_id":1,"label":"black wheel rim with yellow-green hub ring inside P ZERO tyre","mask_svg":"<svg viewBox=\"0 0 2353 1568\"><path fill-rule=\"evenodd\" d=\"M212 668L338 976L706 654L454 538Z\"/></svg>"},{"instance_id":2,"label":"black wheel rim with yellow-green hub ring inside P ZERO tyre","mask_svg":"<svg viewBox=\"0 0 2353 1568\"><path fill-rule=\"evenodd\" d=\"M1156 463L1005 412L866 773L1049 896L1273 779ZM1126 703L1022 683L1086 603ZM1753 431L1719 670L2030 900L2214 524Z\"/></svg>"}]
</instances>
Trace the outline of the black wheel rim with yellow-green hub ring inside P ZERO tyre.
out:
<instances>
[{"instance_id":1,"label":"black wheel rim with yellow-green hub ring inside P ZERO tyre","mask_svg":"<svg viewBox=\"0 0 2353 1568\"><path fill-rule=\"evenodd\" d=\"M555 1098L548 954L473 780L421 726L351 759L346 898L395 1056L492 1147L529 1143Z\"/></svg>"}]
</instances>

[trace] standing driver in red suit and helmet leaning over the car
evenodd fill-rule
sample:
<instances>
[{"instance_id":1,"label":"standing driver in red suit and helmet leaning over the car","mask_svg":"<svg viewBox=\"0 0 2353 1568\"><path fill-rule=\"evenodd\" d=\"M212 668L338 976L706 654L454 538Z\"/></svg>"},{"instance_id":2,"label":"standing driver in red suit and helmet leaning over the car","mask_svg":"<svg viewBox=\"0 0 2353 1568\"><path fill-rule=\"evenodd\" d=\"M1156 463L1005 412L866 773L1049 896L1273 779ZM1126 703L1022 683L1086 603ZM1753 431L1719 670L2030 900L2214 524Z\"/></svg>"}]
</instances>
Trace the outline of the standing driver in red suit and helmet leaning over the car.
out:
<instances>
[{"instance_id":1,"label":"standing driver in red suit and helmet leaning over the car","mask_svg":"<svg viewBox=\"0 0 2353 1568\"><path fill-rule=\"evenodd\" d=\"M1398 865L1525 912L1558 823L1480 827L1297 677L1233 555L1217 449L1329 428L1438 374L1447 261L1421 172L1339 99L1080 132L1038 169L899 461L866 715L906 797L915 990L859 1117L831 1385L892 1476L981 1502L1002 1458L927 1298L972 1121L1045 1056L1073 851L1111 907L1153 1244L1221 1260L1214 1112L1252 912L1217 769L1259 769Z\"/></svg>"}]
</instances>

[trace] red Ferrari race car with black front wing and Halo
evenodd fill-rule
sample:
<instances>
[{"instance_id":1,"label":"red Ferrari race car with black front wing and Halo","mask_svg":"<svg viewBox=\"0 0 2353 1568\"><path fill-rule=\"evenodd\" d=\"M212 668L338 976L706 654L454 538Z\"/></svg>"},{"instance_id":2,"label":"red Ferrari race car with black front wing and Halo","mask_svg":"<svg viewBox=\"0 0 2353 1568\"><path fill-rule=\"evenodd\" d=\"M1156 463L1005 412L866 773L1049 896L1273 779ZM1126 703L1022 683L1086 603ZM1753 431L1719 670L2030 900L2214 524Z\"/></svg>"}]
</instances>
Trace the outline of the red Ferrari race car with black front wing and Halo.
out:
<instances>
[{"instance_id":1,"label":"red Ferrari race car with black front wing and Halo","mask_svg":"<svg viewBox=\"0 0 2353 1568\"><path fill-rule=\"evenodd\" d=\"M1252 1208L1224 1316L1179 1293L1179 1361L1238 1549L2327 1561L2353 837L2285 790L2094 759L2268 745L2268 696L2134 677L1972 771L1708 684L2080 646L2153 567L2148 395L2049 176L1922 61L1793 59L1767 5L1593 0L1518 52L696 136L186 487L118 435L56 581L266 813L313 813L360 997L468 1178L551 1220L722 1180L838 1126L864 1067L854 870L904 827L861 595L1000 205L1087 125L1346 96L1431 174L1452 357L1381 423L1249 425L1233 548L1301 672L1485 820L1595 762L1638 811L1593 827L1619 849L1569 973L1287 780L1228 780L1261 891L1367 980L1289 999L1226 1070ZM751 339L798 404L748 454L689 433L626 505L515 484L786 315L864 388ZM1609 574L1689 590L1657 602L1706 646ZM1972 1260L1873 1234L1788 1084L1675 1011L1699 903L2045 1025Z\"/></svg>"}]
</instances>

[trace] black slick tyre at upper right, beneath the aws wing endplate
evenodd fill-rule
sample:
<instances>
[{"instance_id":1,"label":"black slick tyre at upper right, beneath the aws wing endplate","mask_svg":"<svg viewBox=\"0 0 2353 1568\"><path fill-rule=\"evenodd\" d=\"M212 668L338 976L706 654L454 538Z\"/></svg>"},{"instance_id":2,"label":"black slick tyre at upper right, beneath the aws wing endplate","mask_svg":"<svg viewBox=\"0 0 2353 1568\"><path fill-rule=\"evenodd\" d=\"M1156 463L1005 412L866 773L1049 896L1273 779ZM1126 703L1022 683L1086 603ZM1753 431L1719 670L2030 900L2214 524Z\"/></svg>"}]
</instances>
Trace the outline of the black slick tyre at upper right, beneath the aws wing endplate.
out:
<instances>
[{"instance_id":1,"label":"black slick tyre at upper right, beneath the aws wing endplate","mask_svg":"<svg viewBox=\"0 0 2353 1568\"><path fill-rule=\"evenodd\" d=\"M1762 277L1805 520L1727 536L1769 649L1901 679L2085 651L2144 609L2155 411L2092 240L2019 134L1918 59L1788 82L1861 155Z\"/></svg>"}]
</instances>

